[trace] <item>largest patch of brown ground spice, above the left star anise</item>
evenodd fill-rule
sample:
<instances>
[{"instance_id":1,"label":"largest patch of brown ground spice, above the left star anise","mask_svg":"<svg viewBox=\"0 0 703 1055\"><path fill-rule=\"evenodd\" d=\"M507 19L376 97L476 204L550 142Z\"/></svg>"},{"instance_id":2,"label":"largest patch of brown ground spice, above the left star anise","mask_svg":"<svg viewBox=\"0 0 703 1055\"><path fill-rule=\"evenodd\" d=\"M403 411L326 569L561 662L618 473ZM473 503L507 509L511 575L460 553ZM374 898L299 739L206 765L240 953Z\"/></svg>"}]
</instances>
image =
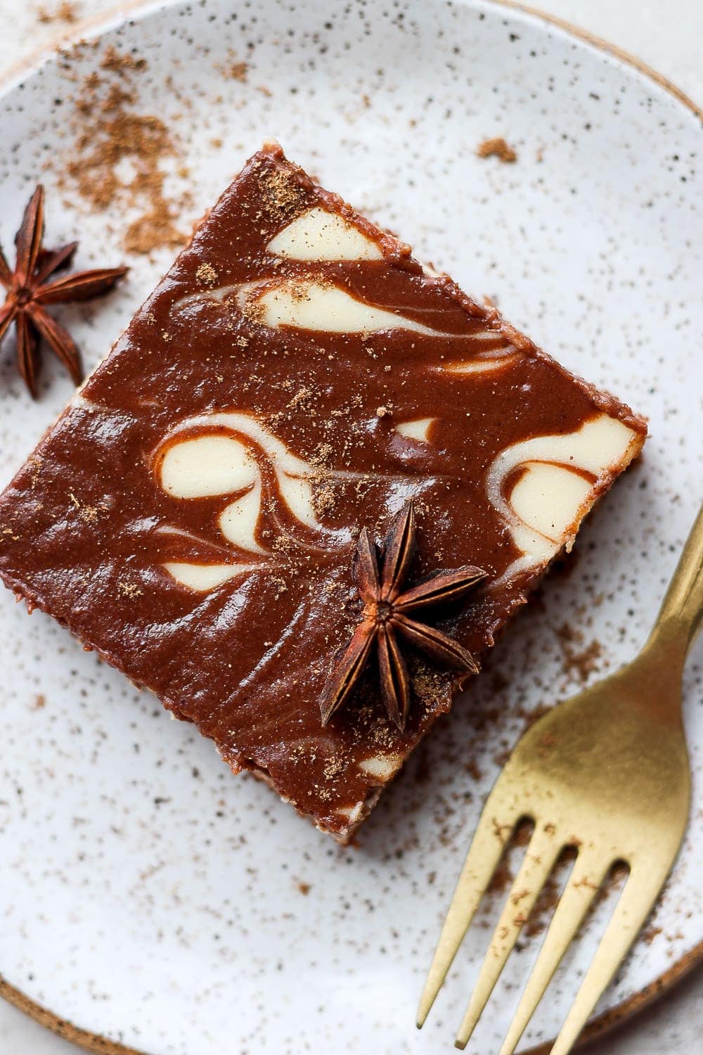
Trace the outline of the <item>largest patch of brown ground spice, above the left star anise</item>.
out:
<instances>
[{"instance_id":1,"label":"largest patch of brown ground spice, above the left star anise","mask_svg":"<svg viewBox=\"0 0 703 1055\"><path fill-rule=\"evenodd\" d=\"M176 220L190 203L170 198L165 180L178 168L179 150L160 117L135 109L134 76L144 59L108 47L102 73L90 74L74 99L76 139L65 173L93 209L119 205L130 219L122 244L128 252L178 248L187 241ZM179 175L184 175L181 168Z\"/></svg>"}]
</instances>

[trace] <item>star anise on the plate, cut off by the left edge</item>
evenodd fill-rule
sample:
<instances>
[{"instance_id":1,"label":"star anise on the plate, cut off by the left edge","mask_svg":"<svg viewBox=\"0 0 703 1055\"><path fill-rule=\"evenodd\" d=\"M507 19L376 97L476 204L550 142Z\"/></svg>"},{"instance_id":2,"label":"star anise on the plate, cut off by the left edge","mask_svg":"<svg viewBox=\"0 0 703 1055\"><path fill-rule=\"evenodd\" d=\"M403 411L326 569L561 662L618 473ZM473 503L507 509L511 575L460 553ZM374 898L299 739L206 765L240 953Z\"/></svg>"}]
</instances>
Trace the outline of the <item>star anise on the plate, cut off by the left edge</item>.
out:
<instances>
[{"instance_id":1,"label":"star anise on the plate, cut off by the left edge","mask_svg":"<svg viewBox=\"0 0 703 1055\"><path fill-rule=\"evenodd\" d=\"M47 282L55 271L69 266L78 243L72 242L60 249L44 249L41 244L43 234L44 190L40 186L24 210L15 238L17 258L14 271L0 248L0 284L7 290L5 303L0 307L0 341L15 323L17 365L33 398L37 395L39 343L42 338L66 367L75 384L79 384L83 376L80 352L73 338L46 311L46 305L99 296L111 290L129 270L125 267L99 268Z\"/></svg>"}]
</instances>

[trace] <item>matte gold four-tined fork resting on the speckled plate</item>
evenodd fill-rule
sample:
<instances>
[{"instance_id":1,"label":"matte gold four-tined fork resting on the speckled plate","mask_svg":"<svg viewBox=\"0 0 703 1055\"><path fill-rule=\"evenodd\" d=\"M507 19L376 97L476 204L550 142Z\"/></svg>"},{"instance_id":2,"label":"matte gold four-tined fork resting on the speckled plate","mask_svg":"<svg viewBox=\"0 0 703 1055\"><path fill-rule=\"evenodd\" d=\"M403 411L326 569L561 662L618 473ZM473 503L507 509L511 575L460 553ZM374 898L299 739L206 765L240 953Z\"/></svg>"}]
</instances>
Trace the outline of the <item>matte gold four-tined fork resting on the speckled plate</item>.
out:
<instances>
[{"instance_id":1,"label":"matte gold four-tined fork resting on the speckled plate","mask_svg":"<svg viewBox=\"0 0 703 1055\"><path fill-rule=\"evenodd\" d=\"M540 718L499 775L442 928L418 1028L515 827L529 818L532 836L455 1043L466 1047L556 858L573 846L573 868L500 1055L514 1052L599 888L612 865L624 861L625 887L551 1055L571 1051L655 904L683 839L690 770L681 676L702 615L703 507L640 655Z\"/></svg>"}]
</instances>

